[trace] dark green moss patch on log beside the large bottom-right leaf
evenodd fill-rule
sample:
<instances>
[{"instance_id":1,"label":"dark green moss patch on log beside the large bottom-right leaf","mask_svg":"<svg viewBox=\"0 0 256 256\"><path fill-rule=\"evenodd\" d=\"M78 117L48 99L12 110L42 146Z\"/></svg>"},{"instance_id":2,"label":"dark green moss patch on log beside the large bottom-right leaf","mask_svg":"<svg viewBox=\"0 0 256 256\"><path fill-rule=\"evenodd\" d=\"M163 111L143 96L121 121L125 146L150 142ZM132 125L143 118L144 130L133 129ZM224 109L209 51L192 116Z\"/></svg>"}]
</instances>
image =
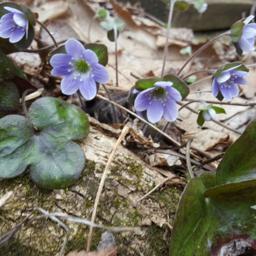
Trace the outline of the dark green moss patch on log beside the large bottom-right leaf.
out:
<instances>
[{"instance_id":1,"label":"dark green moss patch on log beside the large bottom-right leaf","mask_svg":"<svg viewBox=\"0 0 256 256\"><path fill-rule=\"evenodd\" d=\"M152 224L146 232L146 240L149 242L150 246L145 255L168 255L169 254L169 244L171 239L171 231L169 229L165 238L166 227L158 227ZM165 238L166 240L163 240Z\"/></svg>"}]
</instances>

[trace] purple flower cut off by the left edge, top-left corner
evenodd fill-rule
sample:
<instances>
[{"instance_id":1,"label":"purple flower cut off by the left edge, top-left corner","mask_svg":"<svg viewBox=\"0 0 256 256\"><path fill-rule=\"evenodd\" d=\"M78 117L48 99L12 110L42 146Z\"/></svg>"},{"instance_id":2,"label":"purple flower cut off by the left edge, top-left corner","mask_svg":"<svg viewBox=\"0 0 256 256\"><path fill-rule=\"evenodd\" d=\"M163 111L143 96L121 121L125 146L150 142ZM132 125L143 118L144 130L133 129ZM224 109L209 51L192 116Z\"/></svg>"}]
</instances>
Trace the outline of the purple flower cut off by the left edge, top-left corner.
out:
<instances>
[{"instance_id":1,"label":"purple flower cut off by the left edge, top-left corner","mask_svg":"<svg viewBox=\"0 0 256 256\"><path fill-rule=\"evenodd\" d=\"M17 43L26 34L28 39L28 19L22 11L11 7L4 7L10 13L4 14L0 19L0 37L9 38L10 43Z\"/></svg>"}]
</instances>

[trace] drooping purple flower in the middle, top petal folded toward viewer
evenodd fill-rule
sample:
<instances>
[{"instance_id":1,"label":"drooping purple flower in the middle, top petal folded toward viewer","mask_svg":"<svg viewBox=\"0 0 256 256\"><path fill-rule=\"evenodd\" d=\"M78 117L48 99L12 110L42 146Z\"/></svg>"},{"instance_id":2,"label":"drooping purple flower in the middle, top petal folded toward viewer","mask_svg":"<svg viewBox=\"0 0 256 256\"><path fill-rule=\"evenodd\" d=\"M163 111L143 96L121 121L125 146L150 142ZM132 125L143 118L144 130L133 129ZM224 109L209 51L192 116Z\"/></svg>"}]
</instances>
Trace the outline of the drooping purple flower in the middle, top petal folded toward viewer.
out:
<instances>
[{"instance_id":1,"label":"drooping purple flower in the middle, top petal folded toward viewer","mask_svg":"<svg viewBox=\"0 0 256 256\"><path fill-rule=\"evenodd\" d=\"M148 88L137 96L134 107L137 112L147 111L147 119L151 123L158 122L162 116L169 122L176 120L178 108L176 101L182 97L172 87L172 82L156 82L155 87Z\"/></svg>"}]
</instances>

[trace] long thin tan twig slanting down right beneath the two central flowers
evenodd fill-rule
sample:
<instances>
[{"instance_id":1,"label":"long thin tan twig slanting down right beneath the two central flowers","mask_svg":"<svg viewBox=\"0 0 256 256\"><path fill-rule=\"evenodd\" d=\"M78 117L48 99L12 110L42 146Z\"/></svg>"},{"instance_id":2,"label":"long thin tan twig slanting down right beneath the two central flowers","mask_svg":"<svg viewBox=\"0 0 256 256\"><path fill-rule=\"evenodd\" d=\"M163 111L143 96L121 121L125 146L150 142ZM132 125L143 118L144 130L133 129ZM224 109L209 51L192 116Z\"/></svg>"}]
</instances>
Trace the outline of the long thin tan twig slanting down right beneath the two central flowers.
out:
<instances>
[{"instance_id":1,"label":"long thin tan twig slanting down right beneath the two central flowers","mask_svg":"<svg viewBox=\"0 0 256 256\"><path fill-rule=\"evenodd\" d=\"M129 109L127 109L127 108L125 108L125 107L123 107L123 106L117 104L117 103L114 102L114 101L108 100L107 98L105 98L105 97L103 97L103 96L101 96L101 95L99 95L99 94L97 94L96 97L97 97L98 99L104 100L104 101L106 101L106 102L109 102L109 103L111 103L111 104L117 106L119 109L122 109L122 110L126 111L127 113L129 113L129 114L132 115L132 116L135 116L136 118L140 119L142 122L144 122L145 124L147 124L148 126L152 127L154 130L156 130L157 132L159 132L160 134L162 134L164 137L166 137L168 140L170 140L170 141L171 141L173 144L175 144L176 146L181 146L181 144L180 144L179 142L177 142L177 141L175 141L174 139L172 139L168 134L166 134L165 132L161 131L161 130L158 129L156 126L154 126L153 124L147 122L144 118L142 118L142 117L140 117L139 115L133 113L133 112L130 111ZM201 155L203 155L203 156L205 156L205 157L207 157L207 158L211 158L211 157L212 157L210 154L208 154L208 153L206 153L206 152L200 150L199 148L191 147L191 149L192 149L192 150L195 150L195 151L197 151L197 152L199 152ZM202 160L201 157L197 156L197 155L194 154L194 153L191 153L191 155L194 156L194 157L196 157L196 158L198 158L198 159L200 159L200 160Z\"/></svg>"}]
</instances>

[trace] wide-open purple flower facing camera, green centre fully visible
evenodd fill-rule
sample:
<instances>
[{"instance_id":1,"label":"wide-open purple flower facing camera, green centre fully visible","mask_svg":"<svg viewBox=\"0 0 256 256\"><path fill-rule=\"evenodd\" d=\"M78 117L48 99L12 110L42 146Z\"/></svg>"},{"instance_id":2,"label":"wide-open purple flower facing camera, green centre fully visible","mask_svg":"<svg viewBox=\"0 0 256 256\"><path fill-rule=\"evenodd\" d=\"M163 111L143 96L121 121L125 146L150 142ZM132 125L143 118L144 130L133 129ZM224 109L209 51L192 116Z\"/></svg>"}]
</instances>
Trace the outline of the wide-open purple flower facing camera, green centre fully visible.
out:
<instances>
[{"instance_id":1,"label":"wide-open purple flower facing camera, green centre fully visible","mask_svg":"<svg viewBox=\"0 0 256 256\"><path fill-rule=\"evenodd\" d=\"M86 50L79 41L71 38L65 48L68 54L58 53L51 58L51 74L64 76L60 84L63 94L72 95L79 89L85 99L93 99L97 94L96 82L109 81L108 71L98 63L96 53Z\"/></svg>"}]
</instances>

